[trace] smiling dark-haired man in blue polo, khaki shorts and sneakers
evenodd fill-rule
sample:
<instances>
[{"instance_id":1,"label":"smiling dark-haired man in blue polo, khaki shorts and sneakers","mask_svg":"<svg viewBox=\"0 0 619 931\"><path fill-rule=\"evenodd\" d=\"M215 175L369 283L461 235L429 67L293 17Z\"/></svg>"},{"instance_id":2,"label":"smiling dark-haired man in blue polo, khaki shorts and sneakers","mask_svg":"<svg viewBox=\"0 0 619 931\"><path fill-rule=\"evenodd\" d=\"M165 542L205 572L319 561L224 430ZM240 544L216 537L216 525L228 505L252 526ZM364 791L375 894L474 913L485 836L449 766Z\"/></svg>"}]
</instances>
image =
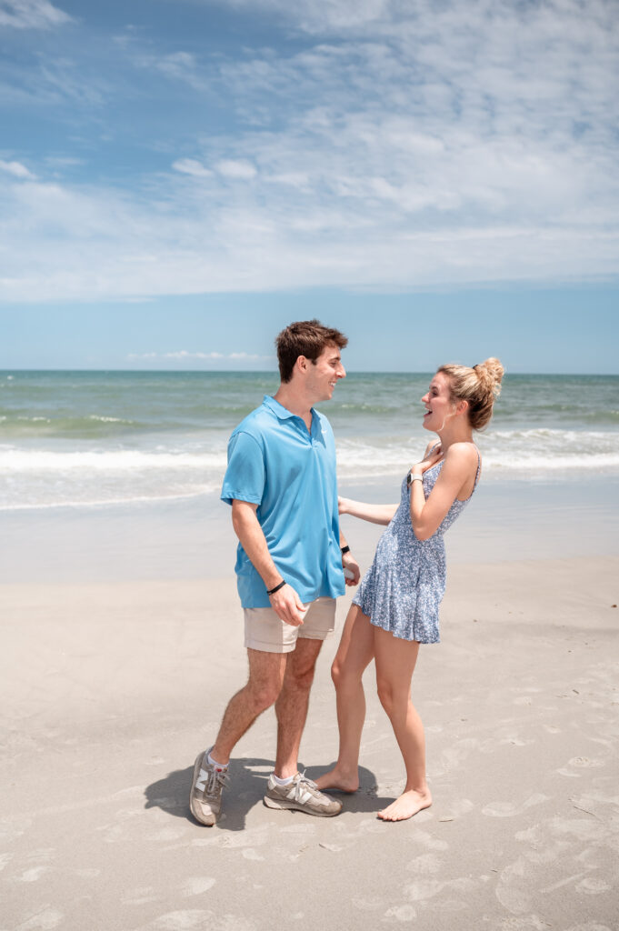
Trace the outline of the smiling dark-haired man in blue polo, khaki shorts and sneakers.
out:
<instances>
[{"instance_id":1,"label":"smiling dark-haired man in blue polo, khaki shorts and sneakers","mask_svg":"<svg viewBox=\"0 0 619 931\"><path fill-rule=\"evenodd\" d=\"M345 377L343 333L317 320L292 323L276 338L276 395L236 427L228 445L222 500L239 539L235 572L245 614L249 679L232 697L213 746L198 754L190 805L217 821L230 754L275 703L277 753L264 803L310 815L339 814L342 803L297 771L316 659L333 630L335 599L357 585L359 567L339 530L335 443L314 410Z\"/></svg>"}]
</instances>

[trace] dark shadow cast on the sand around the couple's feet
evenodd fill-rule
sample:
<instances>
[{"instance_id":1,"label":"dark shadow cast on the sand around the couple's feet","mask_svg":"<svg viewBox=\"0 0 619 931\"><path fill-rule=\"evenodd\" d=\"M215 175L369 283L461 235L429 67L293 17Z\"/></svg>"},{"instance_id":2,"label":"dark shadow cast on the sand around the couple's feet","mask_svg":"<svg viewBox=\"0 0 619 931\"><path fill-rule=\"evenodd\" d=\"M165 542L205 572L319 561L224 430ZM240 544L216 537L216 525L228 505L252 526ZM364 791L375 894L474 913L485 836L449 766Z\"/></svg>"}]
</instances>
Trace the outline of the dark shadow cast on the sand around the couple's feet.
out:
<instances>
[{"instance_id":1,"label":"dark shadow cast on the sand around the couple's feet","mask_svg":"<svg viewBox=\"0 0 619 931\"><path fill-rule=\"evenodd\" d=\"M300 766L303 772L303 766ZM310 778L317 778L327 773L331 766L312 767ZM225 807L222 819L218 821L220 830L244 830L246 816L250 808L262 802L266 780L273 772L272 760L233 760L230 763L232 789L226 791ZM194 767L177 769L162 779L157 779L144 789L145 808L161 808L174 817L183 817L197 824L189 810L189 790L191 789ZM376 794L376 779L369 769L359 767L360 786L357 792L333 792L343 802L343 811L375 813L390 802L391 798L379 798ZM297 814L292 812L291 814Z\"/></svg>"}]
</instances>

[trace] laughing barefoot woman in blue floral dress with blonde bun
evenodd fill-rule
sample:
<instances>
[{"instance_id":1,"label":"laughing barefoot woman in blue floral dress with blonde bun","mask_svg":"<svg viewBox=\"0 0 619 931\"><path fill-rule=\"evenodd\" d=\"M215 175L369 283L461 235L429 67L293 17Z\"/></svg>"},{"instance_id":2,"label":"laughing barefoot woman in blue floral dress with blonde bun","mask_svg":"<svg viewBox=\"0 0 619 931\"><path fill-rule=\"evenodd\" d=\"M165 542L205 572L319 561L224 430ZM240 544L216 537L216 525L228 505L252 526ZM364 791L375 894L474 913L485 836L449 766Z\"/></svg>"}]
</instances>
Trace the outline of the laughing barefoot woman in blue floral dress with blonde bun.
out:
<instances>
[{"instance_id":1,"label":"laughing barefoot woman in blue floral dress with blonde bun","mask_svg":"<svg viewBox=\"0 0 619 931\"><path fill-rule=\"evenodd\" d=\"M424 460L402 482L399 505L340 499L340 513L387 524L343 628L331 675L337 692L340 752L319 789L358 789L365 719L363 670L374 659L378 695L406 766L406 787L378 816L401 821L432 804L425 779L424 727L410 701L420 643L437 643L438 605L445 593L443 533L475 491L481 460L473 430L491 419L503 366L496 358L472 369L443 365L422 403L424 428L438 434Z\"/></svg>"}]
</instances>

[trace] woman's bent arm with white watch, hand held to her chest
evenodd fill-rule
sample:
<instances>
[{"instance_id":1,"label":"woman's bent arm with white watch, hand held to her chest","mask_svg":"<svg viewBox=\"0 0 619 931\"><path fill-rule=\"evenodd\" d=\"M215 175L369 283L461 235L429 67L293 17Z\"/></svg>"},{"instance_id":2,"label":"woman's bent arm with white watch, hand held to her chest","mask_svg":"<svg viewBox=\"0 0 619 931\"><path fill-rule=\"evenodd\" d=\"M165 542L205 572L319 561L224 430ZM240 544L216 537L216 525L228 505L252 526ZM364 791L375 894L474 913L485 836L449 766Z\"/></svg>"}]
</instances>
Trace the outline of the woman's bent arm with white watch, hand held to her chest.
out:
<instances>
[{"instance_id":1,"label":"woman's bent arm with white watch, hand held to her chest","mask_svg":"<svg viewBox=\"0 0 619 931\"><path fill-rule=\"evenodd\" d=\"M435 459L434 462L437 460ZM413 466L414 472L425 472L434 462L425 460ZM436 533L455 499L470 481L473 469L477 470L478 454L471 443L453 443L445 456L436 484L427 500L421 481L410 485L410 522L418 540L429 540Z\"/></svg>"}]
</instances>

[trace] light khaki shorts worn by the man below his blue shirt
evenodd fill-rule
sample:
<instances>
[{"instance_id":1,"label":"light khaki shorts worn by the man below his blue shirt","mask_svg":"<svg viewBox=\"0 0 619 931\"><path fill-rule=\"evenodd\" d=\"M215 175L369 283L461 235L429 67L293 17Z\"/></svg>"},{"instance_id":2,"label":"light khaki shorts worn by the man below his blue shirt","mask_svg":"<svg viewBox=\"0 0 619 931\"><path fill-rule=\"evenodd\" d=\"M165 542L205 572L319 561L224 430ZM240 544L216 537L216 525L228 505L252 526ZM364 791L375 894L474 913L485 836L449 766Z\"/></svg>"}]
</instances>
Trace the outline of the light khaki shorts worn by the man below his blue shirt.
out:
<instances>
[{"instance_id":1,"label":"light khaki shorts worn by the man below his blue shirt","mask_svg":"<svg viewBox=\"0 0 619 931\"><path fill-rule=\"evenodd\" d=\"M277 617L273 608L243 608L245 645L262 653L292 653L297 637L326 640L335 628L335 599L316 598L303 615L303 624L292 627Z\"/></svg>"}]
</instances>

